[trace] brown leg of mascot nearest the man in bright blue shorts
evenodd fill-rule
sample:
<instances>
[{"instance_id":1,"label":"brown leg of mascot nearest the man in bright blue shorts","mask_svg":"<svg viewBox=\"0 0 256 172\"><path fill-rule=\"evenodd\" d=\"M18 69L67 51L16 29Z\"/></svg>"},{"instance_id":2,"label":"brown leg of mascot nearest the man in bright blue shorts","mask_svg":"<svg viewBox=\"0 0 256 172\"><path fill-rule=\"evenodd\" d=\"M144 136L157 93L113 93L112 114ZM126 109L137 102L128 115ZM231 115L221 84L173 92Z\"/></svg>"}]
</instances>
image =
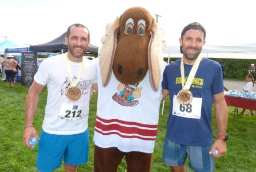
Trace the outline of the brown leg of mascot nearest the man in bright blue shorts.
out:
<instances>
[{"instance_id":1,"label":"brown leg of mascot nearest the man in bright blue shorts","mask_svg":"<svg viewBox=\"0 0 256 172\"><path fill-rule=\"evenodd\" d=\"M95 145L94 148L94 171L115 172L121 163L125 153L116 147L101 148Z\"/></svg>"}]
</instances>

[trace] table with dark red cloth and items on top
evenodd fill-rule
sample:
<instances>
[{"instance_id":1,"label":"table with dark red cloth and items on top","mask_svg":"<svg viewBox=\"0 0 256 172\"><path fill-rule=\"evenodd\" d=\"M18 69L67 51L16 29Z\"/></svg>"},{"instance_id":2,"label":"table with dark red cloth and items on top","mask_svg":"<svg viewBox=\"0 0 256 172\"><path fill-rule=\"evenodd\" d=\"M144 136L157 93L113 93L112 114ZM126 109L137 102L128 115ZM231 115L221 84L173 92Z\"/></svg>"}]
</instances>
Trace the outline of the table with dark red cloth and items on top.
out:
<instances>
[{"instance_id":1,"label":"table with dark red cloth and items on top","mask_svg":"<svg viewBox=\"0 0 256 172\"><path fill-rule=\"evenodd\" d=\"M235 107L235 115L238 115L238 108L256 111L256 93L230 90L225 92L225 101L228 106Z\"/></svg>"}]
</instances>

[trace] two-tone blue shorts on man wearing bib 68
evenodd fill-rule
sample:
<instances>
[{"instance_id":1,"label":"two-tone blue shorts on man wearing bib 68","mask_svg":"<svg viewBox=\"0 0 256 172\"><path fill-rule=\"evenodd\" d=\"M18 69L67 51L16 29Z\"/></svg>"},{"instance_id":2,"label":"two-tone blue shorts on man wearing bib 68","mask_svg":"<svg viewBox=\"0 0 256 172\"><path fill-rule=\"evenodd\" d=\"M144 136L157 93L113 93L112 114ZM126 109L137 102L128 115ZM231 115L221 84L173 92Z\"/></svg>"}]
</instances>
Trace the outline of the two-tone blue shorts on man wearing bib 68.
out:
<instances>
[{"instance_id":1,"label":"two-tone blue shorts on man wearing bib 68","mask_svg":"<svg viewBox=\"0 0 256 172\"><path fill-rule=\"evenodd\" d=\"M162 160L168 166L182 166L189 156L189 167L192 170L213 171L214 157L209 154L210 148L212 146L185 146L165 138Z\"/></svg>"}]
</instances>

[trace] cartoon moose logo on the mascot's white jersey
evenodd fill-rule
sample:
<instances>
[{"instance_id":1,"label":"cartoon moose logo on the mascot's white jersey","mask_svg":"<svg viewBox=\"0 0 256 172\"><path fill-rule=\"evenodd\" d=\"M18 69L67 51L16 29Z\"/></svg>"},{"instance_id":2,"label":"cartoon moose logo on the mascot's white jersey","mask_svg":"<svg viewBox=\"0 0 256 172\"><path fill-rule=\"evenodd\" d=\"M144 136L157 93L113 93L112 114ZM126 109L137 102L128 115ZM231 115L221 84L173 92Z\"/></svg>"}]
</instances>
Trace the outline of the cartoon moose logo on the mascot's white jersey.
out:
<instances>
[{"instance_id":1,"label":"cartoon moose logo on the mascot's white jersey","mask_svg":"<svg viewBox=\"0 0 256 172\"><path fill-rule=\"evenodd\" d=\"M116 92L112 96L112 99L123 106L133 107L134 105L137 105L139 101L134 99L139 99L141 97L142 90L142 87L138 87L138 85L138 83L133 85L119 83L117 87L119 92Z\"/></svg>"}]
</instances>

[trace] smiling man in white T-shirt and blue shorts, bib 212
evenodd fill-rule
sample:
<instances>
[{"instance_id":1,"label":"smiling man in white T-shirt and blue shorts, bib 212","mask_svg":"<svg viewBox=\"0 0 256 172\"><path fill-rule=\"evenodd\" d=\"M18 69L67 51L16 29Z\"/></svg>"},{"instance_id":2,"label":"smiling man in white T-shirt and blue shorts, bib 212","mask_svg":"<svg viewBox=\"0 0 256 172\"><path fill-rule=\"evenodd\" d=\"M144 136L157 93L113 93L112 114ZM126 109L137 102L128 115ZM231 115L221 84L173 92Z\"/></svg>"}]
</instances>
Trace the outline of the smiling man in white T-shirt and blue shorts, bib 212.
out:
<instances>
[{"instance_id":1,"label":"smiling man in white T-shirt and blue shorts, bib 212","mask_svg":"<svg viewBox=\"0 0 256 172\"><path fill-rule=\"evenodd\" d=\"M89 99L97 91L96 64L83 57L90 42L89 30L81 24L69 26L65 38L68 52L46 58L40 64L25 101L24 144L39 138L33 118L40 92L47 84L47 104L39 140L37 169L54 171L62 164L65 171L77 171L88 162Z\"/></svg>"}]
</instances>

